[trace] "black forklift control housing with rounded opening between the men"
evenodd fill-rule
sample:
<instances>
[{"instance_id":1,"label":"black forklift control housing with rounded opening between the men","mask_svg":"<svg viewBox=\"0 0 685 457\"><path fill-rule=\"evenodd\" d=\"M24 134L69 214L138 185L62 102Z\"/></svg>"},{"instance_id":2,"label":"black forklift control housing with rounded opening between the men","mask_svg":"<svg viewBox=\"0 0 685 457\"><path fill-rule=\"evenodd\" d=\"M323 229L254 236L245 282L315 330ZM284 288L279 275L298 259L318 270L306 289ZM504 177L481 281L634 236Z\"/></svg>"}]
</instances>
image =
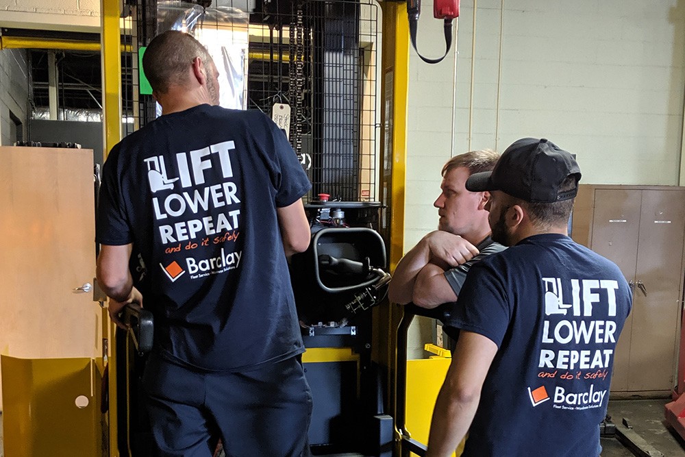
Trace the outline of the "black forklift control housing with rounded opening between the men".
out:
<instances>
[{"instance_id":1,"label":"black forklift control housing with rounded opening between the men","mask_svg":"<svg viewBox=\"0 0 685 457\"><path fill-rule=\"evenodd\" d=\"M292 256L290 277L304 344L349 349L351 358L308 362L314 455L363 452L388 455L392 419L384 415L384 376L371 360L372 316L390 275L386 245L374 230L380 203L317 201L306 205L312 222L307 251ZM307 356L308 354L306 354Z\"/></svg>"}]
</instances>

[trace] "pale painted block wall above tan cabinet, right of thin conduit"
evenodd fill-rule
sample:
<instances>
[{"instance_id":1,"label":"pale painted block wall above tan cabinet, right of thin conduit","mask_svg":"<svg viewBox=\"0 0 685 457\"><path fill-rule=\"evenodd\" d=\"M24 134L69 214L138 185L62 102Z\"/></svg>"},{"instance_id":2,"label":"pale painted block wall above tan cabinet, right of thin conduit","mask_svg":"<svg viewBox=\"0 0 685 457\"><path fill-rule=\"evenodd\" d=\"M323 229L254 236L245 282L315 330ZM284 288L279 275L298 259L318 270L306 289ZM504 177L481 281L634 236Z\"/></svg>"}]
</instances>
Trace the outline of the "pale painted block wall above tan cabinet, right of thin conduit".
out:
<instances>
[{"instance_id":1,"label":"pale painted block wall above tan cabinet, right of thin conduit","mask_svg":"<svg viewBox=\"0 0 685 457\"><path fill-rule=\"evenodd\" d=\"M577 154L584 182L677 184L685 86L677 4L479 1L472 147L547 136ZM469 147L472 11L460 19L457 151Z\"/></svg>"}]
</instances>

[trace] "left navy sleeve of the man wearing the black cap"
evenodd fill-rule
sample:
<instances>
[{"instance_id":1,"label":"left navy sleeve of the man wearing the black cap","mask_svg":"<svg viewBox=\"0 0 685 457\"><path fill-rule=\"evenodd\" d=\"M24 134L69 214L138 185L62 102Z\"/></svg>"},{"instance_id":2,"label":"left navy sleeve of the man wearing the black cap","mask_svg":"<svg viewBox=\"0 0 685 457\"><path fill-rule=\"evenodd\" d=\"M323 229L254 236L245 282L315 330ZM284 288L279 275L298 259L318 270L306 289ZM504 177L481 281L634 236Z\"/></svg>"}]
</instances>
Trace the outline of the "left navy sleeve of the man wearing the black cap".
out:
<instances>
[{"instance_id":1,"label":"left navy sleeve of the man wearing the black cap","mask_svg":"<svg viewBox=\"0 0 685 457\"><path fill-rule=\"evenodd\" d=\"M481 334L501 345L512 316L506 283L490 262L473 265L445 326Z\"/></svg>"}]
</instances>

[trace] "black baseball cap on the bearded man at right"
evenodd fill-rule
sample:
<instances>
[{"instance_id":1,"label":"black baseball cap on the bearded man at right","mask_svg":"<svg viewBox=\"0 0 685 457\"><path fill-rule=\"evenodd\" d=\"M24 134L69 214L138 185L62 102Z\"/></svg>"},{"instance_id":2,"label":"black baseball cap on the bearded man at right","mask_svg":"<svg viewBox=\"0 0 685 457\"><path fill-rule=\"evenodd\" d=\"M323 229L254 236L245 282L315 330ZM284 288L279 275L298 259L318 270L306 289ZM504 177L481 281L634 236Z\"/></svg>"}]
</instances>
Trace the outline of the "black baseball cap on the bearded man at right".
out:
<instances>
[{"instance_id":1,"label":"black baseball cap on the bearded man at right","mask_svg":"<svg viewBox=\"0 0 685 457\"><path fill-rule=\"evenodd\" d=\"M566 177L575 176L575 188L559 190ZM578 193L580 167L575 155L545 138L521 138L502 153L493 171L474 173L466 181L471 192L501 190L531 203L568 200Z\"/></svg>"}]
</instances>

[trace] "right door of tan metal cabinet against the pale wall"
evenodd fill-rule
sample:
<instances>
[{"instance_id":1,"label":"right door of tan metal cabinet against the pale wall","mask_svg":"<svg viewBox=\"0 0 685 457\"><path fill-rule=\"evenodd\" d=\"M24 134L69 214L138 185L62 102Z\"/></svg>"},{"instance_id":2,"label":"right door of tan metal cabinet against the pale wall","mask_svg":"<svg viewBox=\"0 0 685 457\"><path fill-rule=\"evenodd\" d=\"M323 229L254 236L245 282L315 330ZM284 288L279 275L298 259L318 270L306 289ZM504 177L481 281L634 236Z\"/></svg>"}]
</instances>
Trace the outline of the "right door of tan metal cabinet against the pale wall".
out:
<instances>
[{"instance_id":1,"label":"right door of tan metal cabinet against the pale wall","mask_svg":"<svg viewBox=\"0 0 685 457\"><path fill-rule=\"evenodd\" d=\"M643 190L634 291L630 391L670 391L680 323L685 192Z\"/></svg>"}]
</instances>

